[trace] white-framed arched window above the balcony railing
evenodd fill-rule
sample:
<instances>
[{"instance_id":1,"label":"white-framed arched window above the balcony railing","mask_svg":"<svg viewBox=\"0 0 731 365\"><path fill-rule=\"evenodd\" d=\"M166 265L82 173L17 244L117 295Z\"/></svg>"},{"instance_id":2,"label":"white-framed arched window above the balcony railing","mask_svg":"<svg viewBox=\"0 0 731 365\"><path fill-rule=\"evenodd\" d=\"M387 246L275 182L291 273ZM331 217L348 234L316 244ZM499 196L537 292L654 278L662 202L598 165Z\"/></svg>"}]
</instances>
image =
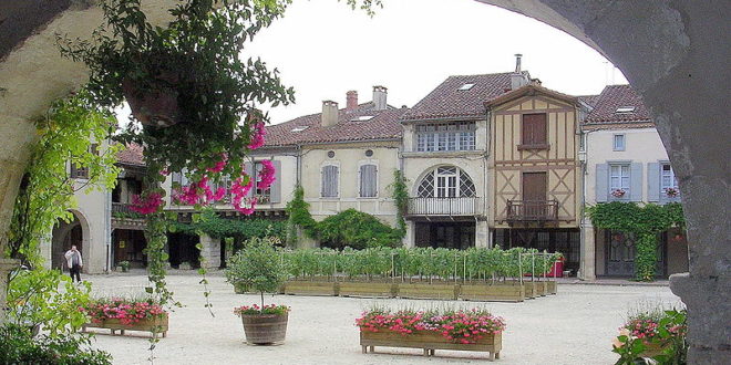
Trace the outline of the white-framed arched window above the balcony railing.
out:
<instances>
[{"instance_id":1,"label":"white-framed arched window above the balcony railing","mask_svg":"<svg viewBox=\"0 0 731 365\"><path fill-rule=\"evenodd\" d=\"M470 175L455 166L441 166L426 174L419 184L420 198L474 197L475 185Z\"/></svg>"}]
</instances>

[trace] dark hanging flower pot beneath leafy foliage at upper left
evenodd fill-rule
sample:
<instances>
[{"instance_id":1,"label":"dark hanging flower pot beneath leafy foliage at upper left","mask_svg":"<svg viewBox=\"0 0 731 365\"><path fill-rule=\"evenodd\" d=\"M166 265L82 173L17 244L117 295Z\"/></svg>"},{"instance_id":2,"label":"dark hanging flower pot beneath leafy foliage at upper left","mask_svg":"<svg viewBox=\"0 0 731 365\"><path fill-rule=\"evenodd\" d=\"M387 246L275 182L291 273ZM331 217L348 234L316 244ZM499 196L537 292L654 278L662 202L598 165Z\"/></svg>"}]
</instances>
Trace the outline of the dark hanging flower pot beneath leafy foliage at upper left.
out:
<instances>
[{"instance_id":1,"label":"dark hanging flower pot beneath leafy foliage at upper left","mask_svg":"<svg viewBox=\"0 0 731 365\"><path fill-rule=\"evenodd\" d=\"M168 127L181 122L178 92L165 80L153 80L151 87L141 88L131 79L122 81L122 92L132 114L143 125Z\"/></svg>"}]
</instances>

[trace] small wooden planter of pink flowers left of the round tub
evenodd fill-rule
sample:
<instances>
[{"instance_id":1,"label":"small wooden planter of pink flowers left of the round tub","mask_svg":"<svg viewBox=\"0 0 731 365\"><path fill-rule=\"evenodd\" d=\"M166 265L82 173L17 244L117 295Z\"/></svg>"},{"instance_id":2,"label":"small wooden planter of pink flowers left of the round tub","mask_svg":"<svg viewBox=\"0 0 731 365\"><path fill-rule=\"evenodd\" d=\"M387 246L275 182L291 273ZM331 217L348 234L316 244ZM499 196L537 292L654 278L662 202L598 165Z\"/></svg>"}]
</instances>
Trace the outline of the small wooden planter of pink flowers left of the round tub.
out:
<instances>
[{"instance_id":1,"label":"small wooden planter of pink flowers left of the round tub","mask_svg":"<svg viewBox=\"0 0 731 365\"><path fill-rule=\"evenodd\" d=\"M167 336L167 312L152 299L100 299L79 309L90 317L90 322L82 326L86 332L89 327L111 330L112 335L120 331L152 332L153 337L162 333Z\"/></svg>"}]
</instances>

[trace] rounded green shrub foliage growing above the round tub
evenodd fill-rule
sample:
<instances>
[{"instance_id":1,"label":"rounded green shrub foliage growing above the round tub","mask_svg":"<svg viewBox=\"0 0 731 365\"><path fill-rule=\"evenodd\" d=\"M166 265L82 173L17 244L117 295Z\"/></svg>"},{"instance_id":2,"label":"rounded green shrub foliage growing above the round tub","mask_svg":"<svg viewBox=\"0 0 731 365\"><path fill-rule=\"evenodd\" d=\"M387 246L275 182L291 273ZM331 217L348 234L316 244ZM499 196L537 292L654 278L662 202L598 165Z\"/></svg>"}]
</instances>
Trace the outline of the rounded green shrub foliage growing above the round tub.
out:
<instances>
[{"instance_id":1,"label":"rounded green shrub foliage growing above the round tub","mask_svg":"<svg viewBox=\"0 0 731 365\"><path fill-rule=\"evenodd\" d=\"M274 241L266 238L249 239L226 264L226 280L255 292L275 293L287 279L287 265ZM264 303L261 303L264 306Z\"/></svg>"}]
</instances>

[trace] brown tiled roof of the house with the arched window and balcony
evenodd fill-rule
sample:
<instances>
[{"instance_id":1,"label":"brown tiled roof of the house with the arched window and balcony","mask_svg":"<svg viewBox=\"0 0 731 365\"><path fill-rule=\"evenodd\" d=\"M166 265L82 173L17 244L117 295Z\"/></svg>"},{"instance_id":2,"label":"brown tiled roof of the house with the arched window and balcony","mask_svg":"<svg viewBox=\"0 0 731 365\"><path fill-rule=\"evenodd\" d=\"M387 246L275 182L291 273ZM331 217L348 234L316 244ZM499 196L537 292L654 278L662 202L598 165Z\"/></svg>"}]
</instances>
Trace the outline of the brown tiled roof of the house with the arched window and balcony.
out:
<instances>
[{"instance_id":1,"label":"brown tiled roof of the house with the arched window and balcony","mask_svg":"<svg viewBox=\"0 0 731 365\"><path fill-rule=\"evenodd\" d=\"M523 72L529 77L527 71ZM485 115L483 103L511 91L511 74L450 76L401 117L403 121L459 118ZM470 90L460 90L474 84Z\"/></svg>"}]
</instances>

